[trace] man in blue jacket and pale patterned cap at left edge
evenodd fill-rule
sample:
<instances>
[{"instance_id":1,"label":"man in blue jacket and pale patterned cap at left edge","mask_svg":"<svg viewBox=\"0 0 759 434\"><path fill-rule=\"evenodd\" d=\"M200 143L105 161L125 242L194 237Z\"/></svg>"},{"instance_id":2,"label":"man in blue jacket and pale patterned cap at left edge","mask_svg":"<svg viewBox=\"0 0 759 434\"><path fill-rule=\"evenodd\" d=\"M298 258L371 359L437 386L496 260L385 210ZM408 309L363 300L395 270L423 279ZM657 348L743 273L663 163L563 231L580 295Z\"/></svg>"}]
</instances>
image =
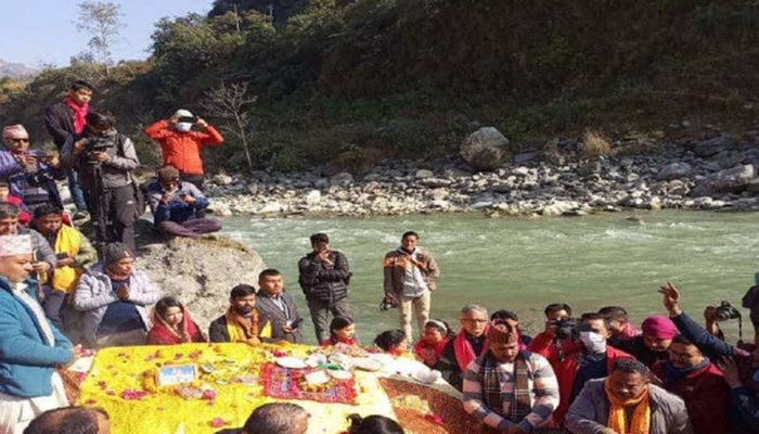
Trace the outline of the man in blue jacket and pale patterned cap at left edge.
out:
<instances>
[{"instance_id":1,"label":"man in blue jacket and pale patterned cap at left edge","mask_svg":"<svg viewBox=\"0 0 759 434\"><path fill-rule=\"evenodd\" d=\"M0 434L22 434L38 414L68 405L55 368L72 343L44 317L29 279L29 235L0 235Z\"/></svg>"}]
</instances>

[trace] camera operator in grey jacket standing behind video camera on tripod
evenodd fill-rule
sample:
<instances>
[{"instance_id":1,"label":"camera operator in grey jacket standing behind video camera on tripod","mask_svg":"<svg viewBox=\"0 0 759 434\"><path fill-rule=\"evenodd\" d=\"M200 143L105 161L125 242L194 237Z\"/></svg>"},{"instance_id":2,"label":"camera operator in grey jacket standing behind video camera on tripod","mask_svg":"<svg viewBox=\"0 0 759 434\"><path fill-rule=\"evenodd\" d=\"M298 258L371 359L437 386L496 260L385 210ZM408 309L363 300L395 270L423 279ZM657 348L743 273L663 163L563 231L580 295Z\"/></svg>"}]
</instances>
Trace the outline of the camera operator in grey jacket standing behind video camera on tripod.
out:
<instances>
[{"instance_id":1,"label":"camera operator in grey jacket standing behind video camera on tripod","mask_svg":"<svg viewBox=\"0 0 759 434\"><path fill-rule=\"evenodd\" d=\"M123 242L134 253L134 221L141 209L132 171L140 162L134 144L116 130L115 123L111 116L89 113L83 138L66 142L62 158L79 173L99 251L106 243Z\"/></svg>"}]
</instances>

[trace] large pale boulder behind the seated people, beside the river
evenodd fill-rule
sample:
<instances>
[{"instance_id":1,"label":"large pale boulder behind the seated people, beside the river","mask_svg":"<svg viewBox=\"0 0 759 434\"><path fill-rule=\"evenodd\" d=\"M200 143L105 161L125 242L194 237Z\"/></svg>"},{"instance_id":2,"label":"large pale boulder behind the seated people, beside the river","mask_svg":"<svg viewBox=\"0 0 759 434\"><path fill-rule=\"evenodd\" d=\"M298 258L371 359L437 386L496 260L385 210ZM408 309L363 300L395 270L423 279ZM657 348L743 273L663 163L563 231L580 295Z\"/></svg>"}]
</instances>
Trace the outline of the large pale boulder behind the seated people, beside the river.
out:
<instances>
[{"instance_id":1,"label":"large pale boulder behind the seated people, beside the river","mask_svg":"<svg viewBox=\"0 0 759 434\"><path fill-rule=\"evenodd\" d=\"M176 238L142 247L138 267L160 289L192 312L203 330L223 315L229 292L240 283L255 284L266 269L250 247L224 238Z\"/></svg>"}]
</instances>

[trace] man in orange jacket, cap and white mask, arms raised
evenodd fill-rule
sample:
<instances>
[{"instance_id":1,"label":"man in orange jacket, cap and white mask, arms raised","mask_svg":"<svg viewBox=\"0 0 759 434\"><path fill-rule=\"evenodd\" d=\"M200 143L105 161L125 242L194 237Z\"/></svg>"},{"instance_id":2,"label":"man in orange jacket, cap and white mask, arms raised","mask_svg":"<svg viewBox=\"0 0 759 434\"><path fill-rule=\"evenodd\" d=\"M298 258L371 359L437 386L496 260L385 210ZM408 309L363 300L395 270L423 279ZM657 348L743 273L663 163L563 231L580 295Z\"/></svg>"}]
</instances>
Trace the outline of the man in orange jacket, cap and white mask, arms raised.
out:
<instances>
[{"instance_id":1,"label":"man in orange jacket, cap and white mask, arms raised","mask_svg":"<svg viewBox=\"0 0 759 434\"><path fill-rule=\"evenodd\" d=\"M196 126L200 130L193 131ZM164 166L179 170L181 180L203 189L203 146L219 145L224 141L221 133L190 111L178 110L168 120L158 120L145 128L145 135L160 143Z\"/></svg>"}]
</instances>

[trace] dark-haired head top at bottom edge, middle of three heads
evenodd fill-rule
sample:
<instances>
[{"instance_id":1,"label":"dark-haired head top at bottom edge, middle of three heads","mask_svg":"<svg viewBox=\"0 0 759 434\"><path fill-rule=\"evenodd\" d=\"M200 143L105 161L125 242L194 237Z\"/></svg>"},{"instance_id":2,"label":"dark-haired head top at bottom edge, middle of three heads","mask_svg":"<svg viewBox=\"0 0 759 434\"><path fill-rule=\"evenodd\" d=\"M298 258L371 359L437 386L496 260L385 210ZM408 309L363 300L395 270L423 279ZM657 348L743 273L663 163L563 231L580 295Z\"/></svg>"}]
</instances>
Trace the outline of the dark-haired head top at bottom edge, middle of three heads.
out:
<instances>
[{"instance_id":1,"label":"dark-haired head top at bottom edge, middle of three heads","mask_svg":"<svg viewBox=\"0 0 759 434\"><path fill-rule=\"evenodd\" d=\"M308 412L297 404L265 404L250 413L241 430L223 430L217 434L306 434Z\"/></svg>"}]
</instances>

